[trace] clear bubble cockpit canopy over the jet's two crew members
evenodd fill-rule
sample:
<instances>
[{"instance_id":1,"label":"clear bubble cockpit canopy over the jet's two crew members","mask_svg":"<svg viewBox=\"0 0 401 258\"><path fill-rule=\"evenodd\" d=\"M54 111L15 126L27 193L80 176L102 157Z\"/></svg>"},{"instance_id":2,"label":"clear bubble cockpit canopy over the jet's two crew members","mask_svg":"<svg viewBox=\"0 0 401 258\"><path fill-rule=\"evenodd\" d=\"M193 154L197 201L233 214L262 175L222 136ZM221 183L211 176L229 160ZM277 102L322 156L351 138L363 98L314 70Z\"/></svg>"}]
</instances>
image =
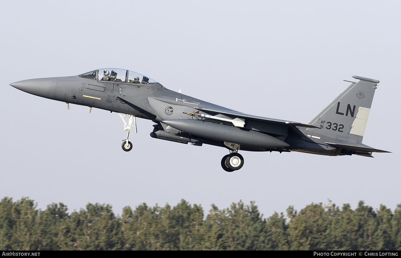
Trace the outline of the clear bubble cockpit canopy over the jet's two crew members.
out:
<instances>
[{"instance_id":1,"label":"clear bubble cockpit canopy over the jet's two crew members","mask_svg":"<svg viewBox=\"0 0 401 258\"><path fill-rule=\"evenodd\" d=\"M138 83L138 84L157 83L157 81L152 80L149 77L146 77L145 75L141 75L140 73L116 68L104 68L104 69L94 70L88 73L83 73L78 76L86 79L93 79L98 81L114 81L120 83Z\"/></svg>"}]
</instances>

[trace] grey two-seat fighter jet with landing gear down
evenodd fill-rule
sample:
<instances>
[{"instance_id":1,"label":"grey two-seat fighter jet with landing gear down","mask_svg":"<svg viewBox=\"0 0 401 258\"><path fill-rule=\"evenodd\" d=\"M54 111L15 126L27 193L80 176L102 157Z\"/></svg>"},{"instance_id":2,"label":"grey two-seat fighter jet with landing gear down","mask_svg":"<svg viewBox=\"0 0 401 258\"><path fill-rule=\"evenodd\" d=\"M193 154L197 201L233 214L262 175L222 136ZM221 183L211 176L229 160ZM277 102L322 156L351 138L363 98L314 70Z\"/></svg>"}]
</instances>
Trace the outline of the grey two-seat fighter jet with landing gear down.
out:
<instances>
[{"instance_id":1,"label":"grey two-seat fighter jet with landing gear down","mask_svg":"<svg viewBox=\"0 0 401 258\"><path fill-rule=\"evenodd\" d=\"M300 151L339 156L373 157L372 152L389 152L362 144L378 80L352 76L351 83L309 124L247 115L174 92L160 83L128 70L99 69L70 77L31 79L11 83L27 93L119 113L128 131L136 117L152 120L150 136L166 141L225 147L229 154L221 167L232 172L244 164L241 151ZM345 80L344 80L345 81ZM125 117L128 117L128 123ZM134 123L134 125L133 125Z\"/></svg>"}]
</instances>

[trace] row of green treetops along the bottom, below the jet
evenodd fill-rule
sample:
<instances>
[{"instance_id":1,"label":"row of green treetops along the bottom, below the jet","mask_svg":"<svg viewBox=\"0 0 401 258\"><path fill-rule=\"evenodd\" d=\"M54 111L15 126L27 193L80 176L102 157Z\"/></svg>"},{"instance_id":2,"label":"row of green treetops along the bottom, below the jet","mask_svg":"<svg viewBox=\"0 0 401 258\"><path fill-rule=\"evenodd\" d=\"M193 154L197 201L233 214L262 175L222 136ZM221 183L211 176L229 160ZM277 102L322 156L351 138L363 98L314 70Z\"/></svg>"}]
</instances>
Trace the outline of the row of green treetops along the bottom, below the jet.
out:
<instances>
[{"instance_id":1,"label":"row of green treetops along the bottom, below the jet","mask_svg":"<svg viewBox=\"0 0 401 258\"><path fill-rule=\"evenodd\" d=\"M201 206L129 206L115 216L109 204L67 213L62 203L37 210L34 201L0 203L0 250L401 250L401 204L394 213L360 201L340 209L310 204L262 219L254 202L219 210L205 220Z\"/></svg>"}]
</instances>

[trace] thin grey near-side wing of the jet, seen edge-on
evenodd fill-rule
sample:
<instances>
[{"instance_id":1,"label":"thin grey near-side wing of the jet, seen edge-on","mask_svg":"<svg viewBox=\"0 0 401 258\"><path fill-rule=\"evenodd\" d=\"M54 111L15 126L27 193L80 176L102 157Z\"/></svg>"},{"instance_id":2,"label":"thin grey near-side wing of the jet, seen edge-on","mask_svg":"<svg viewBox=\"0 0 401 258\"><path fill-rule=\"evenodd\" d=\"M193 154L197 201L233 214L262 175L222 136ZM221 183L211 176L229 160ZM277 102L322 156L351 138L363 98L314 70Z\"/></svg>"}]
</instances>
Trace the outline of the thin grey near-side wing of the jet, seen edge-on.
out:
<instances>
[{"instance_id":1,"label":"thin grey near-side wing of the jet, seen edge-on","mask_svg":"<svg viewBox=\"0 0 401 258\"><path fill-rule=\"evenodd\" d=\"M259 121L259 122L263 122L263 123L272 123L272 124L276 124L276 125L319 128L314 125L291 122L291 121L286 121L286 120L281 120L281 119L273 119L273 118L268 118L268 117L258 117L255 115L248 115L248 114L241 113L241 112L234 111L234 110L219 109L219 108L215 108L215 107L213 107L213 108L211 108L211 107L207 107L207 108L206 107L203 107L203 108L195 107L195 109L202 110L202 111L205 111L208 113L231 115L231 116L235 116L235 117L242 118L242 119L249 119L249 120Z\"/></svg>"}]
</instances>

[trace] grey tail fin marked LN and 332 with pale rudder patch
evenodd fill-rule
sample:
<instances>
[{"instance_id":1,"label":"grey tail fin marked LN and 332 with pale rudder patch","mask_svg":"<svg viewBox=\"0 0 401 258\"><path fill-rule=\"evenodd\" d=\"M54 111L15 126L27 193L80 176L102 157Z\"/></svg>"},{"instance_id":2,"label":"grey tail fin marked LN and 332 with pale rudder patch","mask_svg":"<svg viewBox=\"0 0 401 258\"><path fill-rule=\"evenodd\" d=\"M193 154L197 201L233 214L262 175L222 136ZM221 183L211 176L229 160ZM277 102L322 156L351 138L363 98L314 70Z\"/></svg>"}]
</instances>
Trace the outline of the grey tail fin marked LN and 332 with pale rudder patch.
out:
<instances>
[{"instance_id":1,"label":"grey tail fin marked LN and 332 with pale rudder patch","mask_svg":"<svg viewBox=\"0 0 401 258\"><path fill-rule=\"evenodd\" d=\"M342 142L362 143L373 95L379 81L360 76L352 77L359 81L347 81L351 85L309 124L320 127L316 132L322 135Z\"/></svg>"}]
</instances>

